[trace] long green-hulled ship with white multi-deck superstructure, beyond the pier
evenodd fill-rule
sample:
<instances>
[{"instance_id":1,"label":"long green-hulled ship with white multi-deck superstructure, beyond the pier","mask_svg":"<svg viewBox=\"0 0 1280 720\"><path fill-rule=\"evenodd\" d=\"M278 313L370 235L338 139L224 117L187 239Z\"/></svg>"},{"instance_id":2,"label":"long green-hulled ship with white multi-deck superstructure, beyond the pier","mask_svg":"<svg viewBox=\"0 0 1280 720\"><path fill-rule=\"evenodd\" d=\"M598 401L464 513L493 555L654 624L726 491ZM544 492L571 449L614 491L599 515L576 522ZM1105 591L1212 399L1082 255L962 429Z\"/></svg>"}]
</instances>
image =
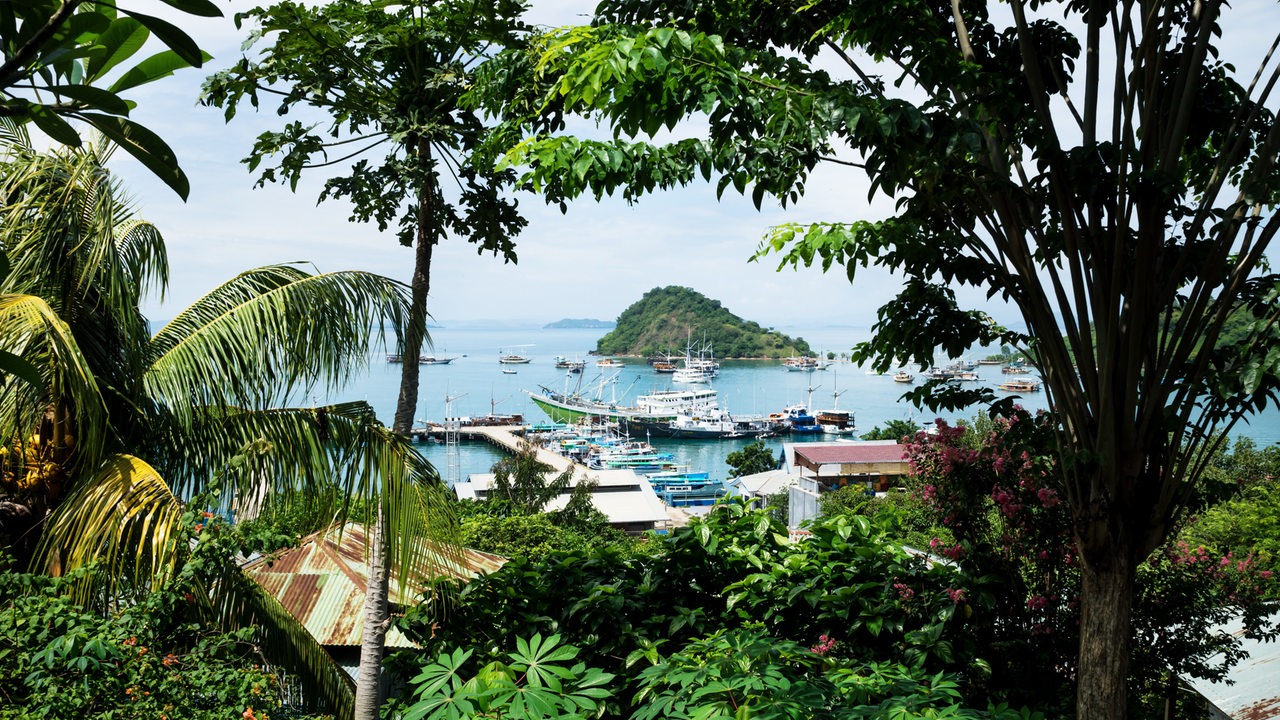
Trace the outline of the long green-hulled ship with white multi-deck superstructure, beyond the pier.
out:
<instances>
[{"instance_id":1,"label":"long green-hulled ship with white multi-deck superstructure, beyond the pier","mask_svg":"<svg viewBox=\"0 0 1280 720\"><path fill-rule=\"evenodd\" d=\"M572 423L582 418L605 418L616 421L673 420L681 413L707 413L719 405L719 393L712 388L659 389L641 395L635 405L620 405L614 392L616 386L614 373L602 378L585 393L576 389L571 392L567 388L557 392L545 386L526 392L534 405L558 423ZM607 388L611 391L609 400L603 397Z\"/></svg>"}]
</instances>

